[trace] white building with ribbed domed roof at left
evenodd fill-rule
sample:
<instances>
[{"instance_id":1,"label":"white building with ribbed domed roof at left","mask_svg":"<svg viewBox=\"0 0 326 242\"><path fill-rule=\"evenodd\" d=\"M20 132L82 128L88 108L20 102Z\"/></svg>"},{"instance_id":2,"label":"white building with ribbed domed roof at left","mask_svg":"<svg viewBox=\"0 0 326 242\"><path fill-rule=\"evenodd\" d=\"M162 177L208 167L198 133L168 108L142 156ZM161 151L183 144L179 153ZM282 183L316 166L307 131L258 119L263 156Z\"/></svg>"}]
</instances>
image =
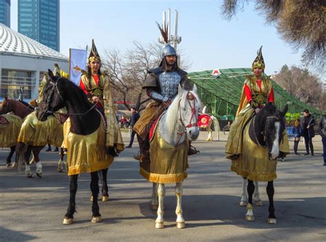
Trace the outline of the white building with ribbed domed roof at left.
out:
<instances>
[{"instance_id":1,"label":"white building with ribbed domed roof at left","mask_svg":"<svg viewBox=\"0 0 326 242\"><path fill-rule=\"evenodd\" d=\"M0 101L5 94L18 98L21 87L24 99L37 99L43 73L53 70L54 63L68 72L65 55L0 23Z\"/></svg>"}]
</instances>

